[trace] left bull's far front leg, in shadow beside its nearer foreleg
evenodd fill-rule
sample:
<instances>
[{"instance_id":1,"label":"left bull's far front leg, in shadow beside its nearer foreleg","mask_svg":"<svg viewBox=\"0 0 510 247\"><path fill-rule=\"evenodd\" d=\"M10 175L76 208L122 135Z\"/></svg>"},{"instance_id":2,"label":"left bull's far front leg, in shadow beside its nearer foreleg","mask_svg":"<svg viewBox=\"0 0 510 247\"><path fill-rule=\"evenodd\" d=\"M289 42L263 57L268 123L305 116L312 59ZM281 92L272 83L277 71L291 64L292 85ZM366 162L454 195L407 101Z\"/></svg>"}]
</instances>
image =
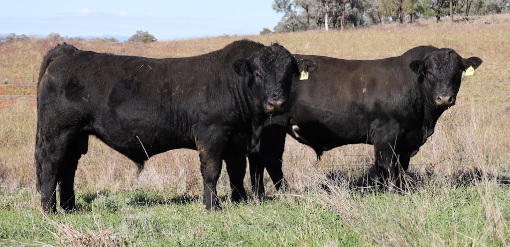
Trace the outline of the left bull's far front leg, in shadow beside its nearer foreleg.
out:
<instances>
[{"instance_id":1,"label":"left bull's far front leg, in shadow beside its nearer foreleg","mask_svg":"<svg viewBox=\"0 0 510 247\"><path fill-rule=\"evenodd\" d=\"M226 171L230 178L232 188L232 201L240 202L246 200L246 190L244 189L244 176L246 174L246 157L244 154L225 158Z\"/></svg>"}]
</instances>

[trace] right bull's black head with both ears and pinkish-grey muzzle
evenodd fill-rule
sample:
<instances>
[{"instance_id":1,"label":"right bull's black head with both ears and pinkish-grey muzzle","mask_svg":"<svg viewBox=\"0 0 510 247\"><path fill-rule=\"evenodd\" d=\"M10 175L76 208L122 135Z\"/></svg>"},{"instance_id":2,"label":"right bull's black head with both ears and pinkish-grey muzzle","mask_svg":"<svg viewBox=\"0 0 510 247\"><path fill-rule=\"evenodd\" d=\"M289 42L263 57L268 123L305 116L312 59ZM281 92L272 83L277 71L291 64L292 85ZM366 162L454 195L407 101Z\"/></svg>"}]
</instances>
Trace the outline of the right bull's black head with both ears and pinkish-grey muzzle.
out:
<instances>
[{"instance_id":1,"label":"right bull's black head with both ears and pinkish-grey muzzle","mask_svg":"<svg viewBox=\"0 0 510 247\"><path fill-rule=\"evenodd\" d=\"M470 66L476 69L481 63L477 57L463 59L453 49L441 48L424 60L413 61L409 67L423 79L430 100L436 106L452 106L461 87L462 72Z\"/></svg>"}]
</instances>

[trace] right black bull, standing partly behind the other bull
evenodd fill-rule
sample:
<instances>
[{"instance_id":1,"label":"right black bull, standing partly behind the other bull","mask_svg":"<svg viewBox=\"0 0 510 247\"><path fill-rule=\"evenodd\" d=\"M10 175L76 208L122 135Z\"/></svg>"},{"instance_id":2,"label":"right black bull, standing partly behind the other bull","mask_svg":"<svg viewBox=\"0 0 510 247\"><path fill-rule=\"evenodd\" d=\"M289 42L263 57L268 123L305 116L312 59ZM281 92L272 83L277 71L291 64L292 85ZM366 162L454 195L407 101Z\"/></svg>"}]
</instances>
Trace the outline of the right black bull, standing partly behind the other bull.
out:
<instances>
[{"instance_id":1,"label":"right black bull, standing partly behind the other bull","mask_svg":"<svg viewBox=\"0 0 510 247\"><path fill-rule=\"evenodd\" d=\"M453 49L419 46L401 56L342 60L295 55L316 65L308 80L294 79L288 113L266 120L260 152L249 156L254 189L264 193L267 169L276 188L282 173L285 136L323 151L347 144L372 144L379 178L401 182L400 172L434 132L441 114L455 104L462 72L482 60L463 59Z\"/></svg>"}]
</instances>

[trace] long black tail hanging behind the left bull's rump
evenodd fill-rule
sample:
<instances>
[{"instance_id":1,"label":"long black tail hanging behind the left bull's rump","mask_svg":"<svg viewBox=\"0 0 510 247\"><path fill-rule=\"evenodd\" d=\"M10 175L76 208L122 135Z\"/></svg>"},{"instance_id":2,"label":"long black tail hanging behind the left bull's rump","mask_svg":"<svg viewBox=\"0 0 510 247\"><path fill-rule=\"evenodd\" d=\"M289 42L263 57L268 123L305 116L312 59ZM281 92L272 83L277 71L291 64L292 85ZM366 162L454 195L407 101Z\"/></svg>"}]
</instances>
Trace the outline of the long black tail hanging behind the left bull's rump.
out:
<instances>
[{"instance_id":1,"label":"long black tail hanging behind the left bull's rump","mask_svg":"<svg viewBox=\"0 0 510 247\"><path fill-rule=\"evenodd\" d=\"M44 142L44 136L42 136L42 127L40 123L40 109L39 109L39 97L40 97L40 86L41 81L43 79L44 74L46 73L46 69L49 67L49 65L52 63L52 61L59 57L59 56L67 56L74 51L77 51L77 48L75 48L72 45L68 45L66 43L58 44L53 49L50 49L48 53L44 56L41 64L41 68L39 71L39 78L37 79L37 128L36 128L36 136L35 136L35 152L34 152L34 166L35 166L35 172L36 172L36 178L37 178L37 184L36 188L38 191L41 190L41 170L42 170L42 164L41 164L41 157L40 157L40 151L42 148L42 144Z\"/></svg>"}]
</instances>

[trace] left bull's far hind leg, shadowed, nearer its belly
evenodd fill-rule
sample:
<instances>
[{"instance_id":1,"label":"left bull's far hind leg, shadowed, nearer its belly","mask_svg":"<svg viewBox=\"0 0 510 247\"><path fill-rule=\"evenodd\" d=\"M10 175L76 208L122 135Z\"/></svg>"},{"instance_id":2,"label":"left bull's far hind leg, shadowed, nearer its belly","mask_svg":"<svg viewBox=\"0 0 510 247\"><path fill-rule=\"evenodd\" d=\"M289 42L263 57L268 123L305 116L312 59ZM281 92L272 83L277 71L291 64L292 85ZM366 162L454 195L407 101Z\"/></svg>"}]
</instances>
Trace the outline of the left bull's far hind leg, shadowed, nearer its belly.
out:
<instances>
[{"instance_id":1,"label":"left bull's far hind leg, shadowed, nearer its belly","mask_svg":"<svg viewBox=\"0 0 510 247\"><path fill-rule=\"evenodd\" d=\"M73 138L69 143L66 160L60 164L58 172L60 206L66 211L72 211L76 207L74 198L74 174L78 167L78 160L82 154L87 153L89 136L82 134Z\"/></svg>"}]
</instances>

